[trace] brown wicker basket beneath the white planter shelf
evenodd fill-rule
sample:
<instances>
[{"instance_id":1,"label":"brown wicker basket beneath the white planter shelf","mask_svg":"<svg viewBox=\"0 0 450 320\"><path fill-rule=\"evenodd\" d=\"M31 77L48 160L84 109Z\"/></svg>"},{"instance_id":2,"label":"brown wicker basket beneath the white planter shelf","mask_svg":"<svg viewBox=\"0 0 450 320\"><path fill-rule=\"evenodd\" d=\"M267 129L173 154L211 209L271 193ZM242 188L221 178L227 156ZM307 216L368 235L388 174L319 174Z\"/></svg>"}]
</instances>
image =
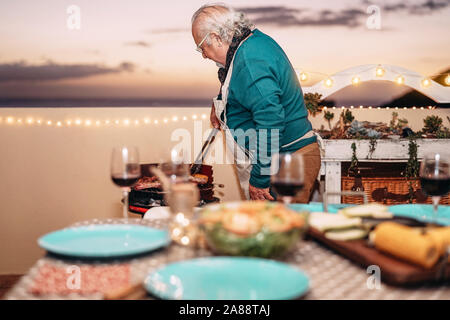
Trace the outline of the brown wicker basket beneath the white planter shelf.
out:
<instances>
[{"instance_id":1,"label":"brown wicker basket beneath the white planter shelf","mask_svg":"<svg viewBox=\"0 0 450 320\"><path fill-rule=\"evenodd\" d=\"M349 191L355 184L354 177L342 177L342 190ZM384 204L409 203L409 183L404 177L361 178L369 202ZM423 194L419 179L412 180L414 190L412 203L432 203L431 197ZM362 197L342 196L342 203L362 204ZM440 204L450 204L450 194L441 198Z\"/></svg>"}]
</instances>

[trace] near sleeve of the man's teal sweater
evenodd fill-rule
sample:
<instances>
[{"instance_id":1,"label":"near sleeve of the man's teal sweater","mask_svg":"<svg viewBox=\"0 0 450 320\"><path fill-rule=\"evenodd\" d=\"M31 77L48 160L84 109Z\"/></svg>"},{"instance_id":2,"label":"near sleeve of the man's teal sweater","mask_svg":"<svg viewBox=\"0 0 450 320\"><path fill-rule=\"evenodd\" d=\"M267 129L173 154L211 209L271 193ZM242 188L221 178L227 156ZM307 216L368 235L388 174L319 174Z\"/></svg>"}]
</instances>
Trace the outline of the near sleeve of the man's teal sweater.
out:
<instances>
[{"instance_id":1,"label":"near sleeve of the man's teal sweater","mask_svg":"<svg viewBox=\"0 0 450 320\"><path fill-rule=\"evenodd\" d=\"M256 128L256 148L250 184L257 188L270 186L271 155L278 153L285 128L285 110L280 103L281 88L276 66L264 60L245 59L233 81L239 87L237 99L253 117Z\"/></svg>"}]
</instances>

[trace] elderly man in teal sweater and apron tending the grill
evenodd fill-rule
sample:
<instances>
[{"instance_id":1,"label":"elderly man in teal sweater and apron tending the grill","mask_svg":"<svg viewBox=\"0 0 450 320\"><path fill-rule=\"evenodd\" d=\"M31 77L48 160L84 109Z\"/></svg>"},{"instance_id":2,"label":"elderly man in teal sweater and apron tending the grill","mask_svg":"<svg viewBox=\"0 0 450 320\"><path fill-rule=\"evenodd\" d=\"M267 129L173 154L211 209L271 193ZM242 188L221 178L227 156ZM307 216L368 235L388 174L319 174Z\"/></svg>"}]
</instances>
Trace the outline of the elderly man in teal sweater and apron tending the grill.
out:
<instances>
[{"instance_id":1,"label":"elderly man in teal sweater and apron tending the grill","mask_svg":"<svg viewBox=\"0 0 450 320\"><path fill-rule=\"evenodd\" d=\"M220 68L219 95L211 124L221 127L234 150L247 199L274 200L271 155L302 154L305 181L296 202L309 201L320 169L320 150L305 108L300 83L284 51L253 28L243 13L206 5L192 17L192 36L203 58Z\"/></svg>"}]
</instances>

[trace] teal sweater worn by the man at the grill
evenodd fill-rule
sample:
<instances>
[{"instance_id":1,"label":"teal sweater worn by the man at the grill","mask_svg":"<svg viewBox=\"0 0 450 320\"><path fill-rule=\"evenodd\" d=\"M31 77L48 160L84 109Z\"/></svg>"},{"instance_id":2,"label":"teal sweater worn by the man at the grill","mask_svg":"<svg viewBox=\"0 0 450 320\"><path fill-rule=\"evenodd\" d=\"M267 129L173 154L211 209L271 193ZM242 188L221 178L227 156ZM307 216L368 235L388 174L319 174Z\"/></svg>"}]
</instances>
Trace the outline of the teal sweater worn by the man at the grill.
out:
<instances>
[{"instance_id":1,"label":"teal sweater worn by the man at the grill","mask_svg":"<svg viewBox=\"0 0 450 320\"><path fill-rule=\"evenodd\" d=\"M226 116L234 139L255 157L250 184L257 188L270 186L273 153L295 152L316 141L314 136L281 148L312 126L288 57L258 29L236 51Z\"/></svg>"}]
</instances>

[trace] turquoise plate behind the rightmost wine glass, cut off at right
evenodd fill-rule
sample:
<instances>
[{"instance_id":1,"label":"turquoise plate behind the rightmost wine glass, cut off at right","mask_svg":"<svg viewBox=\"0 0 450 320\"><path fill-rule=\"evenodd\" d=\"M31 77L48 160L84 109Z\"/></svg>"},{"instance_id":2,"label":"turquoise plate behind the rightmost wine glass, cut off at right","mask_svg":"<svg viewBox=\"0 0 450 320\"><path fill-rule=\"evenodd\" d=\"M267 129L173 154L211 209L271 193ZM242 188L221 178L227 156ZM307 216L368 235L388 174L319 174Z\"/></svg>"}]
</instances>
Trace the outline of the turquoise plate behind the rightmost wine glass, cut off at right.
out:
<instances>
[{"instance_id":1,"label":"turquoise plate behind the rightmost wine glass, cut off at right","mask_svg":"<svg viewBox=\"0 0 450 320\"><path fill-rule=\"evenodd\" d=\"M431 204L399 204L389 206L389 211L396 216L414 218L423 222L433 221L433 206ZM450 225L450 206L440 205L436 222Z\"/></svg>"}]
</instances>

